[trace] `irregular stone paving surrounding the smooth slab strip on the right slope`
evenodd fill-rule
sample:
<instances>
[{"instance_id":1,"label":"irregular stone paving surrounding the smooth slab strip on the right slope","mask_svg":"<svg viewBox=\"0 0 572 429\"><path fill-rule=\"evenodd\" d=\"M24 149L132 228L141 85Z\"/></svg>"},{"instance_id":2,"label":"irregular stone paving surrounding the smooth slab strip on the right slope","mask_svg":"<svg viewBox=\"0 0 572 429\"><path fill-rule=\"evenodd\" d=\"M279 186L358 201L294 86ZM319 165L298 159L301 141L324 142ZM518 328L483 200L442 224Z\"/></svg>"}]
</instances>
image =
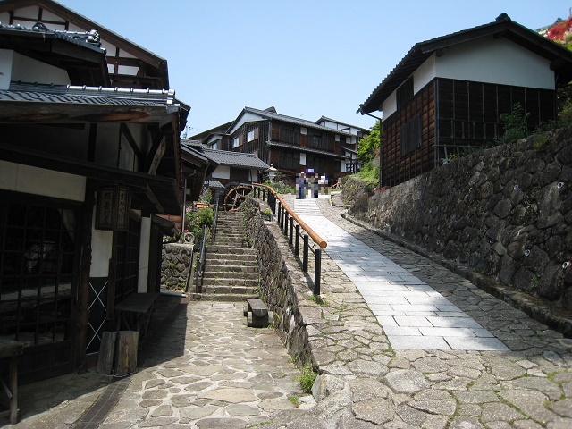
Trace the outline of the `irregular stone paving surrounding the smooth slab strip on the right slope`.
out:
<instances>
[{"instance_id":1,"label":"irregular stone paving surrounding the smooth slab strip on the right slope","mask_svg":"<svg viewBox=\"0 0 572 429\"><path fill-rule=\"evenodd\" d=\"M392 349L356 285L326 253L327 305L310 321L309 338L321 372L320 400L311 417L285 415L269 427L572 427L569 340L441 265L343 219L327 198L316 203L325 218L415 273L508 350Z\"/></svg>"}]
</instances>

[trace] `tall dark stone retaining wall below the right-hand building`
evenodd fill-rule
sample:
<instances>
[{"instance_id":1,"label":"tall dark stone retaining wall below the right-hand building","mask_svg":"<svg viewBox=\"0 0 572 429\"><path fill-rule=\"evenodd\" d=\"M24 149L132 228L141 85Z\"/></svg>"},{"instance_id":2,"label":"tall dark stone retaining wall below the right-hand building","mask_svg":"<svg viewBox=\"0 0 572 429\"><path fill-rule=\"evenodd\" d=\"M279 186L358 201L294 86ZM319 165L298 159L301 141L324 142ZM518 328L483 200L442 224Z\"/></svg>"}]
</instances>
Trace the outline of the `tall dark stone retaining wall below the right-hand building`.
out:
<instances>
[{"instance_id":1,"label":"tall dark stone retaining wall below the right-hand building","mask_svg":"<svg viewBox=\"0 0 572 429\"><path fill-rule=\"evenodd\" d=\"M349 215L501 287L572 309L571 209L569 128L461 157L358 200Z\"/></svg>"}]
</instances>

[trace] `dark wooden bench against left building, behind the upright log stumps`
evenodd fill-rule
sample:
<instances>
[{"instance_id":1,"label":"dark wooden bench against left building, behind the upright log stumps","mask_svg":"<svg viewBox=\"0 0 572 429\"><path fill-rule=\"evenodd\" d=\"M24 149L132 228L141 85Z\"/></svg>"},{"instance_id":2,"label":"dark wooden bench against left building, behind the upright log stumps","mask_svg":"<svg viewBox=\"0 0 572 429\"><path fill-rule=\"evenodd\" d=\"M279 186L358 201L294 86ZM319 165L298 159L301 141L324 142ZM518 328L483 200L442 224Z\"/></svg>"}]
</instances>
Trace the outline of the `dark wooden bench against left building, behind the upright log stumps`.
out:
<instances>
[{"instance_id":1,"label":"dark wooden bench against left building, behind the upright log stumps","mask_svg":"<svg viewBox=\"0 0 572 429\"><path fill-rule=\"evenodd\" d=\"M145 337L158 297L159 293L133 293L115 304L117 331L121 331L124 326L124 330L137 331L140 338Z\"/></svg>"}]
</instances>

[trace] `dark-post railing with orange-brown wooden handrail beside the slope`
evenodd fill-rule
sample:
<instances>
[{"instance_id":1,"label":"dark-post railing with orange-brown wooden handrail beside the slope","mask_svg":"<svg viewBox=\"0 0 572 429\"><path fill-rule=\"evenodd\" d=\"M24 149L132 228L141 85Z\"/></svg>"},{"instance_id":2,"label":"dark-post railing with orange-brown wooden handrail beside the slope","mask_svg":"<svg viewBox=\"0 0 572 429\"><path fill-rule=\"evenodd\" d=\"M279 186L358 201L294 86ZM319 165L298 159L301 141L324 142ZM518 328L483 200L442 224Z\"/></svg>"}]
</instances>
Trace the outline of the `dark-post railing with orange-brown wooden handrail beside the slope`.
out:
<instances>
[{"instance_id":1,"label":"dark-post railing with orange-brown wooden handrail beside the slope","mask_svg":"<svg viewBox=\"0 0 572 429\"><path fill-rule=\"evenodd\" d=\"M302 240L302 271L308 272L308 257L311 252L315 256L314 264L314 295L320 295L320 278L322 273L322 249L326 248L328 243L315 233L298 214L284 202L282 196L268 186L261 183L253 183L253 195L268 203L276 222L280 226L282 233L288 239L290 247L295 257L300 254L300 239ZM314 245L310 246L309 239L314 241ZM317 245L317 248L315 246Z\"/></svg>"}]
</instances>

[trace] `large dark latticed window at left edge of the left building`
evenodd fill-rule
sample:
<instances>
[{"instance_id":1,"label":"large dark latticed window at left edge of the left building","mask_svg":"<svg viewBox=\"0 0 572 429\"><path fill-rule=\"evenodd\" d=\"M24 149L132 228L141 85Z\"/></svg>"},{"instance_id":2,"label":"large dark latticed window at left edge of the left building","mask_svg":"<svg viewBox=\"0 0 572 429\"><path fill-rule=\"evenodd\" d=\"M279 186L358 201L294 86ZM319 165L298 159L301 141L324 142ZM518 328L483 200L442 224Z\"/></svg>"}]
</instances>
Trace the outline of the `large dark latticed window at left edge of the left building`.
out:
<instances>
[{"instance_id":1,"label":"large dark latticed window at left edge of the left building","mask_svg":"<svg viewBox=\"0 0 572 429\"><path fill-rule=\"evenodd\" d=\"M76 224L73 206L0 205L0 337L26 346L70 340Z\"/></svg>"}]
</instances>

